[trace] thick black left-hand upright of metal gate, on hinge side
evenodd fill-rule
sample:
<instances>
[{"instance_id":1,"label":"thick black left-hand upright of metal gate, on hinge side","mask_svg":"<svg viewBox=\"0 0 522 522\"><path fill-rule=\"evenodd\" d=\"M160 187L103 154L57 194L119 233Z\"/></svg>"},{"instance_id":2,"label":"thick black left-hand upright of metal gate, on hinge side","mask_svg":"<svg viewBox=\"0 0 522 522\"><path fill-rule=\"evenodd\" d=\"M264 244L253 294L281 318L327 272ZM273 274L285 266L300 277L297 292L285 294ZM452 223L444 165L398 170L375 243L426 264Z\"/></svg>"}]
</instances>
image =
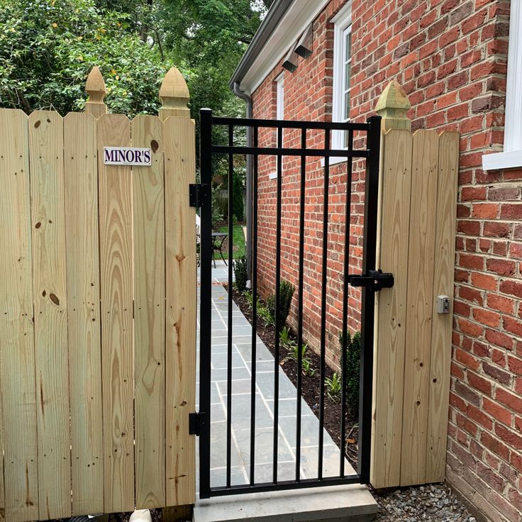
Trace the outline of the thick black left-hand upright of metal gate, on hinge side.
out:
<instances>
[{"instance_id":1,"label":"thick black left-hand upright of metal gate, on hinge side","mask_svg":"<svg viewBox=\"0 0 522 522\"><path fill-rule=\"evenodd\" d=\"M199 498L210 496L210 385L211 385L211 276L212 276L212 111L200 111L201 184L207 186L201 204L201 263L199 298Z\"/></svg>"}]
</instances>

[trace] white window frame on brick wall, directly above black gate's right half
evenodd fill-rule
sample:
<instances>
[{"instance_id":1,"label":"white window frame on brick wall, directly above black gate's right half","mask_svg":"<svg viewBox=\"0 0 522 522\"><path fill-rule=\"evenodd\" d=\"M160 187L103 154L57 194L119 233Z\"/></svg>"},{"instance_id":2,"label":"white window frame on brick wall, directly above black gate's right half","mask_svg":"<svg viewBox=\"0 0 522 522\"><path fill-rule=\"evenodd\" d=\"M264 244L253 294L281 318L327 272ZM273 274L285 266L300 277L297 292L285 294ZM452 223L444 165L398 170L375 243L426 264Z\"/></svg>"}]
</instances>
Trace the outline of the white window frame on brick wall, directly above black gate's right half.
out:
<instances>
[{"instance_id":1,"label":"white window frame on brick wall, directly above black gate's right half","mask_svg":"<svg viewBox=\"0 0 522 522\"><path fill-rule=\"evenodd\" d=\"M349 121L345 116L345 94L350 91L350 85L346 85L346 52L345 39L352 32L352 2L349 1L331 20L333 23L333 99L332 121ZM352 57L350 56L350 63ZM349 109L349 108L348 108ZM348 115L350 111L348 110ZM332 133L332 148L345 149L345 133L342 130L334 130ZM330 163L346 161L345 157L333 157Z\"/></svg>"}]
</instances>

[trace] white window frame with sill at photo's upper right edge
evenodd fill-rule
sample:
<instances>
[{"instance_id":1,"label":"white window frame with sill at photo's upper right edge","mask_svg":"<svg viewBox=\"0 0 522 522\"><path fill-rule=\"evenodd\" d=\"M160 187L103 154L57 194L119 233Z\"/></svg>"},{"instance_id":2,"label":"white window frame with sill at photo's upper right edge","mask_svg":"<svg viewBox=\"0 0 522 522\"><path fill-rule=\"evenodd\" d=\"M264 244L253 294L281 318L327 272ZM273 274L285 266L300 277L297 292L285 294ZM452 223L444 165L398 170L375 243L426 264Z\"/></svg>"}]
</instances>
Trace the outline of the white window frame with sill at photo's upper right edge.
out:
<instances>
[{"instance_id":1,"label":"white window frame with sill at photo's upper right edge","mask_svg":"<svg viewBox=\"0 0 522 522\"><path fill-rule=\"evenodd\" d=\"M484 170L522 167L522 1L511 2L504 152L484 154Z\"/></svg>"}]
</instances>

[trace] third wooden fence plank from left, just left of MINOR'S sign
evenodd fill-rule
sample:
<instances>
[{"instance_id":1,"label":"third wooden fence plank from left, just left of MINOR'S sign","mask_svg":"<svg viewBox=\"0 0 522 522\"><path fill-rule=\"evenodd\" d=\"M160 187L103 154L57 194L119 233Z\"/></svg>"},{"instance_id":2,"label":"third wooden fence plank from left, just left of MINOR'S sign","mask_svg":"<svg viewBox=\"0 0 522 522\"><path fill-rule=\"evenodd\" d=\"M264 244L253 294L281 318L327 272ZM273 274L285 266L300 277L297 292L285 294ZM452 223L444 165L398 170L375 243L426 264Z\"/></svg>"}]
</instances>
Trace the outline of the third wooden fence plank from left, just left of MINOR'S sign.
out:
<instances>
[{"instance_id":1,"label":"third wooden fence plank from left, just left of MINOR'S sign","mask_svg":"<svg viewBox=\"0 0 522 522\"><path fill-rule=\"evenodd\" d=\"M96 119L64 118L72 514L104 511Z\"/></svg>"}]
</instances>

